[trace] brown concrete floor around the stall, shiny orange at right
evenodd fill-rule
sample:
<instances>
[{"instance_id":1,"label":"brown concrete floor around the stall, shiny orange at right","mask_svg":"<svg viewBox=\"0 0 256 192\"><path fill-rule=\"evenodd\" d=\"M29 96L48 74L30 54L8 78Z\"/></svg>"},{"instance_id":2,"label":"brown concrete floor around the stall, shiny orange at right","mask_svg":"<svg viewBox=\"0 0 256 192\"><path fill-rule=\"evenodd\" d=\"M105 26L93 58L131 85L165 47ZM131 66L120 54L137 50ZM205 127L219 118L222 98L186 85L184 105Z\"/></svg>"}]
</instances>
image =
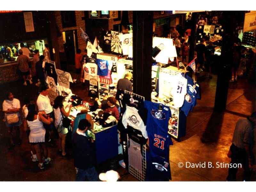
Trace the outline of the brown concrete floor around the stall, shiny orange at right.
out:
<instances>
[{"instance_id":1,"label":"brown concrete floor around the stall, shiny orange at right","mask_svg":"<svg viewBox=\"0 0 256 192\"><path fill-rule=\"evenodd\" d=\"M213 113L217 77L210 79L199 78L202 99L187 118L187 134L180 141L173 140L170 147L170 164L173 181L225 181L228 168L179 168L178 163L185 162L225 162L233 131L238 118L251 114L255 108L255 87L248 84L245 79L237 83L230 83L228 90L227 109L223 113ZM21 82L0 85L1 90L9 89L15 98L20 99L23 106L25 97L37 98L37 87L28 85L24 87ZM71 90L85 100L90 100L88 87L82 84L71 84ZM0 95L1 106L4 95ZM2 112L0 117L3 117ZM15 132L14 132L15 135ZM0 122L0 181L74 181L75 170L73 159L62 157L57 148L49 147L52 162L39 170L37 163L30 159L28 138L21 131L22 144L8 150L9 144L7 130ZM119 167L121 181L138 181L126 170ZM243 170L239 169L237 179L242 180ZM252 174L256 180L255 172Z\"/></svg>"}]
</instances>

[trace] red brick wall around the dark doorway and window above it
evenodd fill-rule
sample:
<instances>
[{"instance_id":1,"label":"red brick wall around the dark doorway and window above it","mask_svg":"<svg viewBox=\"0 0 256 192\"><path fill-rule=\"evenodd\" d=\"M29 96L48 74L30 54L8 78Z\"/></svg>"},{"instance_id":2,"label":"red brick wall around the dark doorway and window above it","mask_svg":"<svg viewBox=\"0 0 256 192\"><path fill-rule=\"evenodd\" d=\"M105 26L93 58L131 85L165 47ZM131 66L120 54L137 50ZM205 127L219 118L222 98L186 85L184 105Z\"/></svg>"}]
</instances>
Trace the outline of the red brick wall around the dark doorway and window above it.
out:
<instances>
[{"instance_id":1,"label":"red brick wall around the dark doorway and window above it","mask_svg":"<svg viewBox=\"0 0 256 192\"><path fill-rule=\"evenodd\" d=\"M78 48L81 50L85 49L85 46L86 46L85 41L80 36L80 34L81 34L80 27L82 29L84 29L84 31L85 31L85 22L84 22L84 20L82 20L82 17L84 17L84 11L75 11L75 13L76 13L76 27L62 28L60 11L55 11L56 23L61 32L61 36L58 37L60 52L64 52L62 32L68 31L68 30L74 30L74 29L77 30L77 41L78 42L76 42L76 43L78 44Z\"/></svg>"}]
</instances>

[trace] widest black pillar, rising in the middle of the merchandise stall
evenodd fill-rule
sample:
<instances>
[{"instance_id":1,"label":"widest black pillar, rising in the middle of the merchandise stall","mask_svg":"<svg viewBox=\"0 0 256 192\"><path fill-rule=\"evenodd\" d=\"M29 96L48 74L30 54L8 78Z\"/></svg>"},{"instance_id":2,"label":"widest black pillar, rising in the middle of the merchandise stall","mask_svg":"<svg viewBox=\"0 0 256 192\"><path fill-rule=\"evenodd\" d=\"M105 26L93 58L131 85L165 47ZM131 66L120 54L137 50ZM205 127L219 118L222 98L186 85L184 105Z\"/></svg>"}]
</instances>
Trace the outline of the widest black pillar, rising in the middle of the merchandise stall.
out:
<instances>
[{"instance_id":1,"label":"widest black pillar, rising in the middle of the merchandise stall","mask_svg":"<svg viewBox=\"0 0 256 192\"><path fill-rule=\"evenodd\" d=\"M133 11L133 92L151 100L153 11Z\"/></svg>"}]
</instances>

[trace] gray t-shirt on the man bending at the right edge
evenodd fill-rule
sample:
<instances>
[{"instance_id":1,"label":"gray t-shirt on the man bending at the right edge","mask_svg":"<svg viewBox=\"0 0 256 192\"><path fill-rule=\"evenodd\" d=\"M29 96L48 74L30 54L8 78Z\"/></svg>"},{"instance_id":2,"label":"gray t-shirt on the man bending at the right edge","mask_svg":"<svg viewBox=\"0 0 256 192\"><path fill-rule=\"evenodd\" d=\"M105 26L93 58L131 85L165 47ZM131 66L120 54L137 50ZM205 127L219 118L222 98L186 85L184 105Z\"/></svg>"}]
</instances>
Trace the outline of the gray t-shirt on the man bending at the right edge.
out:
<instances>
[{"instance_id":1,"label":"gray t-shirt on the man bending at the right edge","mask_svg":"<svg viewBox=\"0 0 256 192\"><path fill-rule=\"evenodd\" d=\"M236 122L232 143L238 148L244 148L244 143L253 143L252 123L247 118L241 118Z\"/></svg>"}]
</instances>

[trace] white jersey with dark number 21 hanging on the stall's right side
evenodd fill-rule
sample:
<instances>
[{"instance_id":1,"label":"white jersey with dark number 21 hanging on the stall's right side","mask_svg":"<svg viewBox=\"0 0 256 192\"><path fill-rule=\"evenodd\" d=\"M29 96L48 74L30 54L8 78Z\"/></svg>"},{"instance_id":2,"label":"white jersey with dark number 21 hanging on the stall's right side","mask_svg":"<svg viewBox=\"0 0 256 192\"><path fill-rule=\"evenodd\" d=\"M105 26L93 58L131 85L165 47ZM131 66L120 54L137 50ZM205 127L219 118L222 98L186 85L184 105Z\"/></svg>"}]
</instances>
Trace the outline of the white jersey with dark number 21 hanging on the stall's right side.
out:
<instances>
[{"instance_id":1,"label":"white jersey with dark number 21 hanging on the stall's right side","mask_svg":"<svg viewBox=\"0 0 256 192\"><path fill-rule=\"evenodd\" d=\"M180 108L187 94L187 79L181 74L172 78L172 97L175 108Z\"/></svg>"}]
</instances>

